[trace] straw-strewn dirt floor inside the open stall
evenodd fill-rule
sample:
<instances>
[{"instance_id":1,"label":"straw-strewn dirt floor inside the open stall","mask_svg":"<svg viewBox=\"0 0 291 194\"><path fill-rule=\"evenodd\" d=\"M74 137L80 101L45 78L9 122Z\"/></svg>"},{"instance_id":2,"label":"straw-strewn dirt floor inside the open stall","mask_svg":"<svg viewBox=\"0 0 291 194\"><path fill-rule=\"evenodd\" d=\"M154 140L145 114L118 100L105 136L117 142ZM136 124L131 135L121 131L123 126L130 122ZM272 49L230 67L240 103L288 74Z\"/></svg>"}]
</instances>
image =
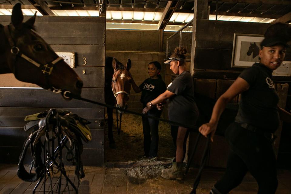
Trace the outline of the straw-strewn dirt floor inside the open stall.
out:
<instances>
[{"instance_id":1,"label":"straw-strewn dirt floor inside the open stall","mask_svg":"<svg viewBox=\"0 0 291 194\"><path fill-rule=\"evenodd\" d=\"M107 114L105 115L107 118ZM113 113L113 136L116 148L109 148L108 125L105 121L105 162L128 162L142 158L143 133L142 118L138 115L122 114L121 133L117 134L116 113ZM175 148L172 142L170 125L165 122L159 123L159 149L158 158L173 158Z\"/></svg>"}]
</instances>

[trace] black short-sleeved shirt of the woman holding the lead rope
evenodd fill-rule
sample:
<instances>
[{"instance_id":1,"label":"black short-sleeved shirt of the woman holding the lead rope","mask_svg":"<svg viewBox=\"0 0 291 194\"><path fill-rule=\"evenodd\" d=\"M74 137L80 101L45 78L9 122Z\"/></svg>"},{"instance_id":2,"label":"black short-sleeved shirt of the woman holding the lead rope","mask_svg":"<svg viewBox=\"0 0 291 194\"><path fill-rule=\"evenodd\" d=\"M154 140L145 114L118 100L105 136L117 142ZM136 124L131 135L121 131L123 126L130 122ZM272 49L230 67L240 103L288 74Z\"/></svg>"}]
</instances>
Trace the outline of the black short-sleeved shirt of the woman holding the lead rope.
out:
<instances>
[{"instance_id":1,"label":"black short-sleeved shirt of the woman holding the lead rope","mask_svg":"<svg viewBox=\"0 0 291 194\"><path fill-rule=\"evenodd\" d=\"M279 127L279 96L273 84L272 70L255 63L239 77L249 83L249 90L241 94L235 121L275 132Z\"/></svg>"}]
</instances>

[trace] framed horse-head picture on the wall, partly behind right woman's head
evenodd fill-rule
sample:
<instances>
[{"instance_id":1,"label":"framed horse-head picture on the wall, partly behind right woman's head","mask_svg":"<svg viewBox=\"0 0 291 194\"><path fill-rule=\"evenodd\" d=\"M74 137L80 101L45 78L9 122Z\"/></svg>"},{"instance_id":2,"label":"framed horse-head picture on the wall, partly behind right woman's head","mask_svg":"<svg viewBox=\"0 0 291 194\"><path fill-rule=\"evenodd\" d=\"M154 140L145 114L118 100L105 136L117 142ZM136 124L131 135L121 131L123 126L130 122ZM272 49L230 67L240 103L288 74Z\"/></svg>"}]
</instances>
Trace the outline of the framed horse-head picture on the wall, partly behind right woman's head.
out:
<instances>
[{"instance_id":1,"label":"framed horse-head picture on the wall, partly behind right woman's head","mask_svg":"<svg viewBox=\"0 0 291 194\"><path fill-rule=\"evenodd\" d=\"M264 39L258 34L234 34L231 67L251 67L259 62L260 43Z\"/></svg>"}]
</instances>

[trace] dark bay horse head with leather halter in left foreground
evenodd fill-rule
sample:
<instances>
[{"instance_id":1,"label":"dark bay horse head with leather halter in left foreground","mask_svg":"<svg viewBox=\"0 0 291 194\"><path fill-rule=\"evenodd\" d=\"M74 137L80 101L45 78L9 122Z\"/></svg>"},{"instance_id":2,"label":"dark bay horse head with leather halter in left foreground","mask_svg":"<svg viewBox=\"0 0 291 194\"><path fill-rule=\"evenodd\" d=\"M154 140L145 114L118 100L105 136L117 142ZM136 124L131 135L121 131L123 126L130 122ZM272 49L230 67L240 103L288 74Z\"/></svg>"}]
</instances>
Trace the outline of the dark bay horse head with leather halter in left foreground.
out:
<instances>
[{"instance_id":1,"label":"dark bay horse head with leather halter in left foreground","mask_svg":"<svg viewBox=\"0 0 291 194\"><path fill-rule=\"evenodd\" d=\"M80 95L83 82L35 32L35 17L22 23L21 4L12 9L11 23L0 25L0 73L54 92Z\"/></svg>"}]
</instances>

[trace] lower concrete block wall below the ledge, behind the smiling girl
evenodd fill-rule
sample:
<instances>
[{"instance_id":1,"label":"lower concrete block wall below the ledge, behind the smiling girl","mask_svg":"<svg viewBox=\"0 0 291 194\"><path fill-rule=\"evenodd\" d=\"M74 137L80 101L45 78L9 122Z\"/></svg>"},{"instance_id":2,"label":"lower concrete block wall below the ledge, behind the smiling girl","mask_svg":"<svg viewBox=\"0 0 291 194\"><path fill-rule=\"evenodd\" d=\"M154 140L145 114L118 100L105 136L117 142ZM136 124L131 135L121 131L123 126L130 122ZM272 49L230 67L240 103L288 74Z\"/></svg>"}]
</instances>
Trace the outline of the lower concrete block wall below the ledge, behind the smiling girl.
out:
<instances>
[{"instance_id":1,"label":"lower concrete block wall below the ledge, behind the smiling girl","mask_svg":"<svg viewBox=\"0 0 291 194\"><path fill-rule=\"evenodd\" d=\"M132 74L136 85L140 85L145 79L149 78L148 65L152 61L158 61L159 63L161 63L162 79L164 80L165 78L165 53L106 51L106 56L115 57L124 65L126 64L129 57L132 62L130 73ZM139 113L142 112L142 103L140 102L140 96L141 93L135 93L134 90L131 89L128 101L128 110Z\"/></svg>"}]
</instances>

